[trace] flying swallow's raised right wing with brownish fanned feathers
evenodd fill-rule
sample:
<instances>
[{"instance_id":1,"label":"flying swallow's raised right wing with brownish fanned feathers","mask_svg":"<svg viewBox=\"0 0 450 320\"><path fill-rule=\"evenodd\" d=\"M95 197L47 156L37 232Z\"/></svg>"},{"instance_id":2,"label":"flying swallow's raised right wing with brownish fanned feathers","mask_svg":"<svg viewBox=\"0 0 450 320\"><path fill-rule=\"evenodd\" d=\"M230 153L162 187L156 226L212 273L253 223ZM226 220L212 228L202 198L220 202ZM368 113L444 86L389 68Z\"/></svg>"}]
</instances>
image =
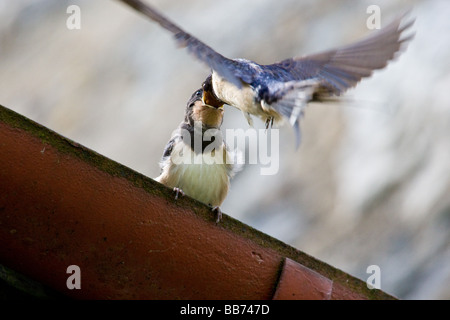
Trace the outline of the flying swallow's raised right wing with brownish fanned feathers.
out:
<instances>
[{"instance_id":1,"label":"flying swallow's raised right wing with brownish fanned feathers","mask_svg":"<svg viewBox=\"0 0 450 320\"><path fill-rule=\"evenodd\" d=\"M286 59L266 67L284 81L317 79L320 81L318 93L340 95L374 70L384 68L413 38L413 35L402 37L414 23L410 20L402 25L404 17L348 46Z\"/></svg>"}]
</instances>

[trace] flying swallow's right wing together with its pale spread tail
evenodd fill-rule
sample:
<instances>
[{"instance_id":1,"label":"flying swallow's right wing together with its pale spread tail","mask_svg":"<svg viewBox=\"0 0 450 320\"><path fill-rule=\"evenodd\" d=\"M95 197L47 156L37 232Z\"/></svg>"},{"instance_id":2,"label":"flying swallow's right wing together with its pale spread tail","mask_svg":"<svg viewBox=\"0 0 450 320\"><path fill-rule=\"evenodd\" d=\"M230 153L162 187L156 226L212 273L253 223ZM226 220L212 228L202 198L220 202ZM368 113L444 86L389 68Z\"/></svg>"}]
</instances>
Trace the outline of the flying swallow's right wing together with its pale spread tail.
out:
<instances>
[{"instance_id":1,"label":"flying swallow's right wing together with its pale spread tail","mask_svg":"<svg viewBox=\"0 0 450 320\"><path fill-rule=\"evenodd\" d=\"M414 21L404 15L367 38L348 46L263 66L272 79L260 99L289 119L300 143L299 120L313 98L340 95L374 70L384 68L412 35L402 37Z\"/></svg>"}]
</instances>

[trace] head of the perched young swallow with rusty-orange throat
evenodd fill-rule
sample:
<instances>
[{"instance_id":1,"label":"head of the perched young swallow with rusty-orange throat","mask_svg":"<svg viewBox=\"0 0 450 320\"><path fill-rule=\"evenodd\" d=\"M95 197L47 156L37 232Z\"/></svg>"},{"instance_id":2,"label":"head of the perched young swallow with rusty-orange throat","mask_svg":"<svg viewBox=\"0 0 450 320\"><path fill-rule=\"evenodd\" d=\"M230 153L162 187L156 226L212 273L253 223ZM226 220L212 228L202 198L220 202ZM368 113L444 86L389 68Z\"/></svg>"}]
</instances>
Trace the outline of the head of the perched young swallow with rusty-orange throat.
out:
<instances>
[{"instance_id":1,"label":"head of the perched young swallow with rusty-orange throat","mask_svg":"<svg viewBox=\"0 0 450 320\"><path fill-rule=\"evenodd\" d=\"M200 121L205 128L220 128L223 121L223 104L215 107L204 102L204 90L195 91L186 106L185 121L194 125L195 121Z\"/></svg>"}]
</instances>

